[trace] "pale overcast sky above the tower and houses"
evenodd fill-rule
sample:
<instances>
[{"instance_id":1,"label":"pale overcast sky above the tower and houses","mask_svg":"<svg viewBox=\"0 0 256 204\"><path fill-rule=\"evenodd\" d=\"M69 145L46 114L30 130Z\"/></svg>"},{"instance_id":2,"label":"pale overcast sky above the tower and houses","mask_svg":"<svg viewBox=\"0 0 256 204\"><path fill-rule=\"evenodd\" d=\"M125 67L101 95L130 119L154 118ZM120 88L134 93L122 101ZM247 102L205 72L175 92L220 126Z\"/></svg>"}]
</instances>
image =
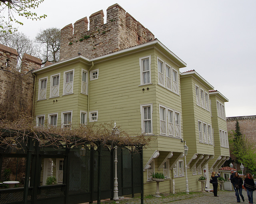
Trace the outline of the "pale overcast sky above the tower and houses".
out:
<instances>
[{"instance_id":1,"label":"pale overcast sky above the tower and houses","mask_svg":"<svg viewBox=\"0 0 256 204\"><path fill-rule=\"evenodd\" d=\"M169 50L229 99L226 116L256 115L255 0L44 0L46 19L19 18L31 39L40 29L64 26L118 3Z\"/></svg>"}]
</instances>

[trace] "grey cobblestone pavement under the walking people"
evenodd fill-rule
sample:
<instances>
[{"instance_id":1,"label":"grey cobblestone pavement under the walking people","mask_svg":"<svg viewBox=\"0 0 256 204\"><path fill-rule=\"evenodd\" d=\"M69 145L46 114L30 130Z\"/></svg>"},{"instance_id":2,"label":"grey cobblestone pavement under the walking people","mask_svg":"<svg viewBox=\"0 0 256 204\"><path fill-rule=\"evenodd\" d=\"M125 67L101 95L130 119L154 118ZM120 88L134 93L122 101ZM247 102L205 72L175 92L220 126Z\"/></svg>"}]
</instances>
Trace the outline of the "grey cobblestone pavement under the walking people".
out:
<instances>
[{"instance_id":1,"label":"grey cobblestone pavement under the walking people","mask_svg":"<svg viewBox=\"0 0 256 204\"><path fill-rule=\"evenodd\" d=\"M245 202L248 204L248 197L246 191L242 191ZM162 195L162 198L156 198L154 196L146 196L144 198L144 204L233 204L236 202L234 197L234 191L218 191L219 197L214 197L212 192L192 192L190 194L177 193ZM256 192L253 194L253 200L256 203ZM103 200L102 200L103 201ZM114 204L114 201L105 201L102 204ZM127 198L119 200L120 204L140 204L140 198Z\"/></svg>"}]
</instances>

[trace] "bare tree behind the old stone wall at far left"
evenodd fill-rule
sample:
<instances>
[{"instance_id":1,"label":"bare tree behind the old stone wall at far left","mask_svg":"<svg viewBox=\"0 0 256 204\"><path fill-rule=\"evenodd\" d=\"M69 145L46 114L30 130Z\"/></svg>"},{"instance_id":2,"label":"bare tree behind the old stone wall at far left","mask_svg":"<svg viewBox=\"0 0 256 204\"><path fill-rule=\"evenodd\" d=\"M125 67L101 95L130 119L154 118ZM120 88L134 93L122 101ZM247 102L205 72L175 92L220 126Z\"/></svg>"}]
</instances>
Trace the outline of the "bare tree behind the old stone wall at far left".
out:
<instances>
[{"instance_id":1,"label":"bare tree behind the old stone wall at far left","mask_svg":"<svg viewBox=\"0 0 256 204\"><path fill-rule=\"evenodd\" d=\"M24 33L2 33L2 35L0 35L0 43L17 50L17 71L20 71L21 59L24 53L29 55L36 55L34 42L30 40Z\"/></svg>"}]
</instances>

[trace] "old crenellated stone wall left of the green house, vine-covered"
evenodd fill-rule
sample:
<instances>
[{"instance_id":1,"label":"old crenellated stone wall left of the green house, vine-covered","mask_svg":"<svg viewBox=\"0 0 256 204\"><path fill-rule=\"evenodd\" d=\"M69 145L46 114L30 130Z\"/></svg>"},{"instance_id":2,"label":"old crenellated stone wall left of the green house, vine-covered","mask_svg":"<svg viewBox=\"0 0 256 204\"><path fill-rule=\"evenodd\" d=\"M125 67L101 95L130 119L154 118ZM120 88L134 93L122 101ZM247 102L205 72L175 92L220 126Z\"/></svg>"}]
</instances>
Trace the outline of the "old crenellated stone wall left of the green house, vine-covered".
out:
<instances>
[{"instance_id":1,"label":"old crenellated stone wall left of the green house, vine-covered","mask_svg":"<svg viewBox=\"0 0 256 204\"><path fill-rule=\"evenodd\" d=\"M24 54L21 71L16 71L18 53L0 44L0 118L14 120L21 112L32 115L34 75L41 60Z\"/></svg>"}]
</instances>

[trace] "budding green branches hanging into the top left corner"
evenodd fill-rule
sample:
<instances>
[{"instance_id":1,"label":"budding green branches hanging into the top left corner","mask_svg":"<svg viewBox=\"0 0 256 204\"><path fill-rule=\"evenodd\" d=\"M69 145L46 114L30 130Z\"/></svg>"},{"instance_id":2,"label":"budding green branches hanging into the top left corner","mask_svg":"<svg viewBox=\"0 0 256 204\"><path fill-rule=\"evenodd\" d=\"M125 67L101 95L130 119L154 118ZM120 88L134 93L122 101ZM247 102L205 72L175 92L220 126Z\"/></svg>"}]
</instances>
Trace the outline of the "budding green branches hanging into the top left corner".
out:
<instances>
[{"instance_id":1,"label":"budding green branches hanging into the top left corner","mask_svg":"<svg viewBox=\"0 0 256 204\"><path fill-rule=\"evenodd\" d=\"M7 31L10 33L17 31L16 28L12 27L11 22L23 25L23 23L15 17L16 15L32 20L45 18L45 14L37 16L35 12L30 11L31 9L37 8L43 1L44 0L0 0L0 19L7 26ZM3 25L0 25L0 28L3 29ZM0 32L6 32L6 30L2 29Z\"/></svg>"}]
</instances>

